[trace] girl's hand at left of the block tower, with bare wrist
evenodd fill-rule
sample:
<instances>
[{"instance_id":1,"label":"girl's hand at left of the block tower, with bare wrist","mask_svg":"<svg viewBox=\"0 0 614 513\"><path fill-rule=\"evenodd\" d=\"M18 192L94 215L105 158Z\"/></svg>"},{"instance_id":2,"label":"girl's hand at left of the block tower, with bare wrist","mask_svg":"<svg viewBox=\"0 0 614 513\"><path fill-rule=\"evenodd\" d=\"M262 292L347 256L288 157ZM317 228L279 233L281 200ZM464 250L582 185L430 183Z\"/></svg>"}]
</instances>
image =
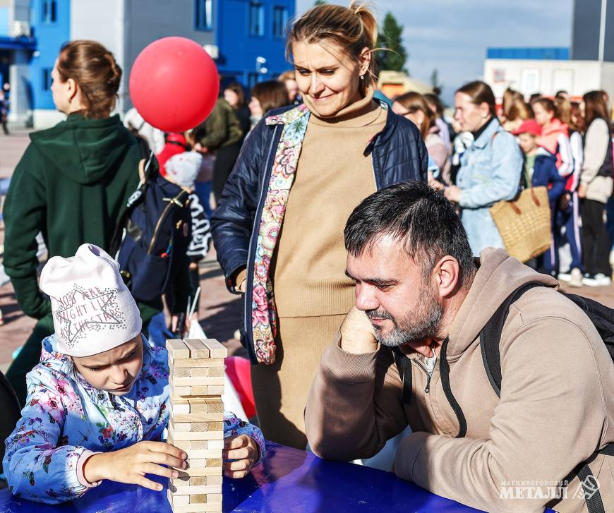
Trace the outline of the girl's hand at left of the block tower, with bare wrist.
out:
<instances>
[{"instance_id":1,"label":"girl's hand at left of the block tower, with bare wrist","mask_svg":"<svg viewBox=\"0 0 614 513\"><path fill-rule=\"evenodd\" d=\"M90 483L110 479L160 491L164 487L145 478L145 474L176 478L179 476L178 471L162 465L185 469L187 457L185 452L174 445L164 442L138 442L125 449L94 454L85 461L83 476Z\"/></svg>"}]
</instances>

